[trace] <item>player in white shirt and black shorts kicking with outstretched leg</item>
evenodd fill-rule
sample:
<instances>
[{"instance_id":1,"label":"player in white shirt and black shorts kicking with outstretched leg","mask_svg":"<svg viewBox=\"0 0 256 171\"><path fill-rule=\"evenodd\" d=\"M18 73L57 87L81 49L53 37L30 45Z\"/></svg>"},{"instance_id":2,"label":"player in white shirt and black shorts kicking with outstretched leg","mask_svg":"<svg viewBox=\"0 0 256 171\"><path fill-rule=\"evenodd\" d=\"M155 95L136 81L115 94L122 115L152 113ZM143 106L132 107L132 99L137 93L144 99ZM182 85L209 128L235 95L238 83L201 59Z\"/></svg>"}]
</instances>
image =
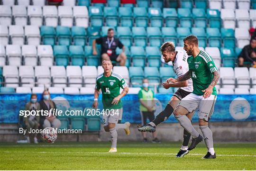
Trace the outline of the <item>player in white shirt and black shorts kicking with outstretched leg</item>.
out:
<instances>
[{"instance_id":1,"label":"player in white shirt and black shorts kicking with outstretched leg","mask_svg":"<svg viewBox=\"0 0 256 171\"><path fill-rule=\"evenodd\" d=\"M184 73L189 71L187 58L188 55L184 51L175 51L175 46L173 42L165 42L161 47L160 51L163 55L163 59L165 63L172 62L174 65L174 72L177 77L183 76ZM173 94L173 97L170 99L168 104L165 107L165 110L160 112L155 119L146 124L146 126L142 126L138 128L140 132L155 132L155 126L164 122L168 117L170 117L174 111L174 108L179 104L181 99L186 97L193 91L192 79L187 81L181 81L177 83L168 83L168 79L163 83L165 89L169 89L171 87L178 87L179 89ZM189 113L187 117L191 120L193 114ZM184 129L183 132L183 144L181 146L180 151L177 153L176 157L183 157L188 149L188 144L190 140L190 134Z\"/></svg>"}]
</instances>

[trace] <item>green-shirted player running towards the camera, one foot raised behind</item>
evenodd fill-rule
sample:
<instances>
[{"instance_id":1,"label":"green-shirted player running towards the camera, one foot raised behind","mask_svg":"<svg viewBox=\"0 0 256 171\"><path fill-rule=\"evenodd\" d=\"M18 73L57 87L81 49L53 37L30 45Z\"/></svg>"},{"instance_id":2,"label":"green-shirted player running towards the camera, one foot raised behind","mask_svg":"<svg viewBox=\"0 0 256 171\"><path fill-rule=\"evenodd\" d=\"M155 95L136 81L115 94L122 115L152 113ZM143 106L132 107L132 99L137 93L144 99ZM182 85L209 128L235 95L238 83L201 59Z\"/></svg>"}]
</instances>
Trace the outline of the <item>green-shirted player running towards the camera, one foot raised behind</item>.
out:
<instances>
[{"instance_id":1,"label":"green-shirted player running towards the camera, one foot raised behind","mask_svg":"<svg viewBox=\"0 0 256 171\"><path fill-rule=\"evenodd\" d=\"M129 135L130 123L118 124L119 116L122 115L123 108L121 98L124 97L129 88L123 77L116 72L112 72L113 65L110 60L102 61L104 72L96 78L96 87L94 91L94 102L92 107L98 108L98 97L100 90L102 92L102 103L104 114L102 124L106 132L110 132L111 148L109 152L117 152L117 130L122 128ZM120 88L123 91L120 94Z\"/></svg>"}]
</instances>

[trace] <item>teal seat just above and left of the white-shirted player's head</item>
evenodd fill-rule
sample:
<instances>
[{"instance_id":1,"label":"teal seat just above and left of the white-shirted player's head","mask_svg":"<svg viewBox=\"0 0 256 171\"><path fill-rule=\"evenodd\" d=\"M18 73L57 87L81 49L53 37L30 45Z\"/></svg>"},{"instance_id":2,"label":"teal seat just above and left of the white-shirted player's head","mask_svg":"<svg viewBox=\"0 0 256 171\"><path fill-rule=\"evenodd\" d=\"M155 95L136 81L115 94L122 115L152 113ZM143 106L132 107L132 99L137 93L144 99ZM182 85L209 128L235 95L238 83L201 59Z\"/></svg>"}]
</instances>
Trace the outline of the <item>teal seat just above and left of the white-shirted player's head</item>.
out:
<instances>
[{"instance_id":1,"label":"teal seat just above and left of the white-shirted player's head","mask_svg":"<svg viewBox=\"0 0 256 171\"><path fill-rule=\"evenodd\" d=\"M150 46L162 45L162 33L159 27L146 27L146 32Z\"/></svg>"}]
</instances>

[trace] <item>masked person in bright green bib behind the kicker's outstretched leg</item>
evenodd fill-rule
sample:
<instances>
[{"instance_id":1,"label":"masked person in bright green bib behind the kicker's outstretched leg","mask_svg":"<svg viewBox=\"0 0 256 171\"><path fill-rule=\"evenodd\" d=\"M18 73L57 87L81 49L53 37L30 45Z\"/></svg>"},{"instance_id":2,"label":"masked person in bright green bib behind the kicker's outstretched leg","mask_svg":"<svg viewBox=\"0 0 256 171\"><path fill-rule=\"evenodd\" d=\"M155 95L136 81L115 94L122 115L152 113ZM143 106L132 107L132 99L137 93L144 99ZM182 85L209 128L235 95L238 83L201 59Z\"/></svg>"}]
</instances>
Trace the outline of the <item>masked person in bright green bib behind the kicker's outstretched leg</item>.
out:
<instances>
[{"instance_id":1,"label":"masked person in bright green bib behind the kicker's outstretched leg","mask_svg":"<svg viewBox=\"0 0 256 171\"><path fill-rule=\"evenodd\" d=\"M140 102L139 110L141 113L142 117L142 125L146 125L146 119L148 118L150 122L152 122L155 119L155 95L154 91L150 90L148 88L148 80L144 79L143 82L143 87L141 90L138 92L138 98ZM160 143L160 141L156 137L156 132L152 133L153 134L153 140L152 143ZM143 136L143 141L147 143L147 138L146 138L146 132L142 132Z\"/></svg>"}]
</instances>

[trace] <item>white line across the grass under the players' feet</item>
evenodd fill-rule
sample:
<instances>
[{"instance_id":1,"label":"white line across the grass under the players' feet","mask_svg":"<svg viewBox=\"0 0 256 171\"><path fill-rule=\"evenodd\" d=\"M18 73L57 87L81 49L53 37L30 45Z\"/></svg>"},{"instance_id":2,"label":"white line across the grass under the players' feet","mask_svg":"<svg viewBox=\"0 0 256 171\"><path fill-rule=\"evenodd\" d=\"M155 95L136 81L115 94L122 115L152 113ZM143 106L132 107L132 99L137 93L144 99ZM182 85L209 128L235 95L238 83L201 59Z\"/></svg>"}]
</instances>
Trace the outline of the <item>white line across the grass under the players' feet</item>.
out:
<instances>
[{"instance_id":1,"label":"white line across the grass under the players' feet","mask_svg":"<svg viewBox=\"0 0 256 171\"><path fill-rule=\"evenodd\" d=\"M9 152L4 153L31 153L31 152ZM63 153L63 152L33 152L33 153ZM176 155L176 153L108 153L108 152L64 152L64 153L95 153L95 154L135 154L135 155ZM189 153L188 155L205 155L198 153ZM256 157L256 155L239 155L239 154L217 154L217 156L230 156L230 157Z\"/></svg>"}]
</instances>

